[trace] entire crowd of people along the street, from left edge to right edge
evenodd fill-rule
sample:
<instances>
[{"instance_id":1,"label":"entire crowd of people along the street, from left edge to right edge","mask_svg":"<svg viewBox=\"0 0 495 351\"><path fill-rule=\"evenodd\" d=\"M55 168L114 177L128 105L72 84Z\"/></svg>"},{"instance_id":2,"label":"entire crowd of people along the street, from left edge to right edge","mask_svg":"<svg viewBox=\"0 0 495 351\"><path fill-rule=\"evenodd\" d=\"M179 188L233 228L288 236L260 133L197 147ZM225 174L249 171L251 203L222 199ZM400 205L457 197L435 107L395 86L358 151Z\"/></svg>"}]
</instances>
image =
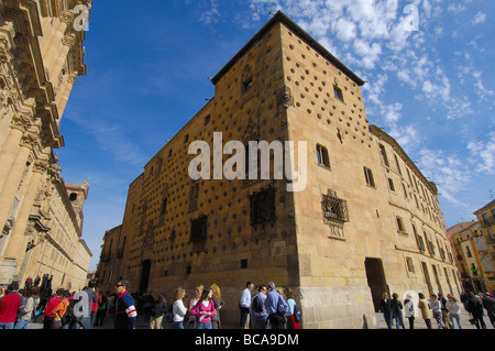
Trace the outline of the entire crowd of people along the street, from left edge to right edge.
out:
<instances>
[{"instance_id":1,"label":"entire crowd of people along the street, from left edge to right edge","mask_svg":"<svg viewBox=\"0 0 495 351\"><path fill-rule=\"evenodd\" d=\"M40 285L41 283L41 285ZM134 329L138 317L150 329L164 329L168 322L173 329L221 329L221 310L226 301L220 287L197 285L195 294L186 301L186 289L177 287L173 301L167 304L164 294L129 293L130 284L121 279L113 293L100 293L96 281L77 292L64 288L52 294L51 281L35 281L19 289L18 283L9 285L0 295L0 329L29 329L33 321L42 321L43 329L91 329L112 323L114 329ZM479 295L462 293L460 300L453 295L444 297L441 293L417 294L415 303L411 295L400 301L398 294L383 294L380 311L389 329L415 329L416 308L427 328L432 329L432 320L438 329L462 329L462 309L470 314L470 322L477 329L486 329L484 311L495 328L495 298L488 293ZM415 296L416 297L416 296ZM187 306L187 307L186 307ZM243 329L300 329L301 314L289 287L276 288L273 282L256 287L246 282L239 298L240 322Z\"/></svg>"}]
</instances>

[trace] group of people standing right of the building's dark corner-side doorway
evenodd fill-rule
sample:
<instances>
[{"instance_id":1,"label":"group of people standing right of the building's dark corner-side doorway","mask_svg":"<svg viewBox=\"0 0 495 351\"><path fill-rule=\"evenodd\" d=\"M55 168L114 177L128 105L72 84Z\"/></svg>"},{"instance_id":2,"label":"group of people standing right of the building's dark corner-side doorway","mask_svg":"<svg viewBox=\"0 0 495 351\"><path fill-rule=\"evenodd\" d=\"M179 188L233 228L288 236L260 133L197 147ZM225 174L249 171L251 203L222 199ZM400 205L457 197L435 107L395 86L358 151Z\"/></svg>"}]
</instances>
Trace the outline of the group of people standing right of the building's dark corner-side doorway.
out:
<instances>
[{"instance_id":1,"label":"group of people standing right of the building's dark corner-side doorway","mask_svg":"<svg viewBox=\"0 0 495 351\"><path fill-rule=\"evenodd\" d=\"M406 329L404 316L409 321L409 329L415 329L415 307L425 321L428 329L432 329L432 319L437 322L438 329L462 329L461 312L462 308L470 314L470 322L477 329L486 329L483 319L484 310L488 316L492 326L495 328L495 299L490 293L474 294L473 292L463 292L461 300L451 294L447 298L441 294L430 294L428 299L422 293L418 293L419 301L415 306L410 294L404 299L404 304L398 299L398 294L392 294L392 299L387 293L384 293L380 301L380 310L384 315L388 329L395 326L397 329Z\"/></svg>"}]
</instances>

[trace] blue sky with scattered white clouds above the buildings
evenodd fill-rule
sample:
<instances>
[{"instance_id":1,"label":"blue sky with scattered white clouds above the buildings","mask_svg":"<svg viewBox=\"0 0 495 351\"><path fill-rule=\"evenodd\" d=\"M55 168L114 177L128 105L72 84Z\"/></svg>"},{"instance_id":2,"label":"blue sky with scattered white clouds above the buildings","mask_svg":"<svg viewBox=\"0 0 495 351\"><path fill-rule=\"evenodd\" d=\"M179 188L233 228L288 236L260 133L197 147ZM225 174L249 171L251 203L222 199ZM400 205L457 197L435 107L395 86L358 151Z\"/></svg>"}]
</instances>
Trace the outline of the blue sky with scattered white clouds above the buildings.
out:
<instances>
[{"instance_id":1,"label":"blue sky with scattered white clouds above the buildings","mask_svg":"<svg viewBox=\"0 0 495 351\"><path fill-rule=\"evenodd\" d=\"M90 270L105 231L122 222L129 184L213 97L208 77L277 10L369 81L370 123L437 183L448 227L495 197L493 0L95 1L87 75L57 151L66 183L89 179Z\"/></svg>"}]
</instances>

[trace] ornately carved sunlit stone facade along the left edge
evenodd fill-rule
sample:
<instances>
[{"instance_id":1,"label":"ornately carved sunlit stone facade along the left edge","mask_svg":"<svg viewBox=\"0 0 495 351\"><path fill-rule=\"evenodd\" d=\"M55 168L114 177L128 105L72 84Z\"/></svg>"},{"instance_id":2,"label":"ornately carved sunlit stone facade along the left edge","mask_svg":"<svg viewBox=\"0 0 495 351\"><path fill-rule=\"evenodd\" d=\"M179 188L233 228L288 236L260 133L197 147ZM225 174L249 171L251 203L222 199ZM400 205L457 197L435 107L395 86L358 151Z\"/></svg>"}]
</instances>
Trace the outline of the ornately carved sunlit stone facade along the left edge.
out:
<instances>
[{"instance_id":1,"label":"ornately carved sunlit stone facade along the left edge","mask_svg":"<svg viewBox=\"0 0 495 351\"><path fill-rule=\"evenodd\" d=\"M59 123L70 90L86 75L77 6L90 1L0 0L1 286L44 274L53 286L86 281L88 184L66 185L54 152L64 146ZM73 193L82 195L77 207Z\"/></svg>"}]
</instances>

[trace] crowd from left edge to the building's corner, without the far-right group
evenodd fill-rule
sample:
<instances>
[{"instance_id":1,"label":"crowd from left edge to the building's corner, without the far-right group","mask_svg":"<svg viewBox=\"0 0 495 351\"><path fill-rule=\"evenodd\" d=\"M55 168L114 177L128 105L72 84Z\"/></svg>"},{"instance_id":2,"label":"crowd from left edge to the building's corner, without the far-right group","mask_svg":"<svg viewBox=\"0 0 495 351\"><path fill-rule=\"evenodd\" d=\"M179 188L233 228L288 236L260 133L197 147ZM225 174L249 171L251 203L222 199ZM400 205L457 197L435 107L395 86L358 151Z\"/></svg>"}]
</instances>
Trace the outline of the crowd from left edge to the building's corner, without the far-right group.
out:
<instances>
[{"instance_id":1,"label":"crowd from left edge to the building's corner, without the far-right group","mask_svg":"<svg viewBox=\"0 0 495 351\"><path fill-rule=\"evenodd\" d=\"M111 323L114 329L134 329L138 317L150 329L221 329L221 309L226 301L220 287L197 285L188 301L187 293L177 287L170 306L164 294L129 293L130 284L121 279L113 293L100 293L96 281L77 292L58 288L52 294L46 277L30 282L19 289L18 283L9 285L0 295L0 329L30 329L34 321L43 329L92 329ZM255 290L252 294L252 290ZM186 307L187 306L187 307ZM290 288L277 289L275 284L246 283L239 300L240 328L299 329L300 312ZM142 317L141 317L142 316Z\"/></svg>"}]
</instances>

